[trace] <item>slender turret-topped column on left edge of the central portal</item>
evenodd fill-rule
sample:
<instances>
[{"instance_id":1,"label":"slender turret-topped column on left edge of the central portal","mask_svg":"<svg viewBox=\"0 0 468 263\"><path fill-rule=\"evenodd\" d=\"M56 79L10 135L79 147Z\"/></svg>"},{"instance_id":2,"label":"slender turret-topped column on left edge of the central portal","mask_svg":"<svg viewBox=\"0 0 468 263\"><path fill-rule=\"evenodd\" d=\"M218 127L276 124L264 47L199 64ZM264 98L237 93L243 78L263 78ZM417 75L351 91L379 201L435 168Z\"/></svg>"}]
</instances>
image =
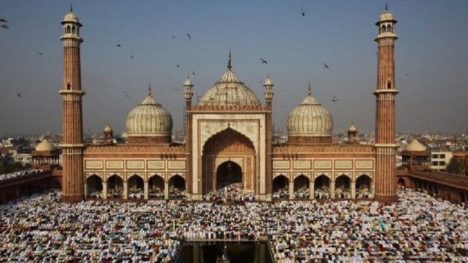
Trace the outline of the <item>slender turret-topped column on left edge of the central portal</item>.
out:
<instances>
[{"instance_id":1,"label":"slender turret-topped column on left edge of the central portal","mask_svg":"<svg viewBox=\"0 0 468 263\"><path fill-rule=\"evenodd\" d=\"M184 98L185 98L185 147L186 147L186 191L188 195L193 193L193 186L192 184L192 160L191 160L191 98L194 96L194 92L192 88L194 84L192 84L190 75L187 75L187 79L184 82ZM196 182L197 183L197 182Z\"/></svg>"}]
</instances>

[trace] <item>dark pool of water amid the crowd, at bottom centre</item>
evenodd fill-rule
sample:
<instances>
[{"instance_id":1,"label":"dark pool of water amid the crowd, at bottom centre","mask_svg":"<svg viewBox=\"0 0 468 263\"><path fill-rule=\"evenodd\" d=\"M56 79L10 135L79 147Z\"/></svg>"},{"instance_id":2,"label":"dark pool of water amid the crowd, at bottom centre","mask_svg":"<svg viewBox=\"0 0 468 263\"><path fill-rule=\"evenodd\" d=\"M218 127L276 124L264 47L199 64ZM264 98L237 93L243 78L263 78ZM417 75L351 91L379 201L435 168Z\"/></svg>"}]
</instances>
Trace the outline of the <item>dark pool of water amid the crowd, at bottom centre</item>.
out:
<instances>
[{"instance_id":1,"label":"dark pool of water amid the crowd, at bottom centre","mask_svg":"<svg viewBox=\"0 0 468 263\"><path fill-rule=\"evenodd\" d=\"M229 263L273 263L267 242L186 242L176 263L216 263L226 251Z\"/></svg>"}]
</instances>

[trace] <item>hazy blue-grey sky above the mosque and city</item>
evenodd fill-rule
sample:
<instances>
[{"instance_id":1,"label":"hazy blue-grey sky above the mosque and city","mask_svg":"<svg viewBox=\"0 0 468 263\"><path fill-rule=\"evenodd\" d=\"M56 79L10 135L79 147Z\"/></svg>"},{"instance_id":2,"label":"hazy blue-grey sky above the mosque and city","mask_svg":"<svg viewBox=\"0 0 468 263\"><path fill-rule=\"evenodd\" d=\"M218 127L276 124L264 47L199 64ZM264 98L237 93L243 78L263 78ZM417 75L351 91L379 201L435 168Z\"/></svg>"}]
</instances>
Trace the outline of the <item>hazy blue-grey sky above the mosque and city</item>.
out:
<instances>
[{"instance_id":1,"label":"hazy blue-grey sky above the mosque and city","mask_svg":"<svg viewBox=\"0 0 468 263\"><path fill-rule=\"evenodd\" d=\"M0 28L0 134L61 132L59 37L70 2L0 1L0 18L8 20L0 24L10 27ZM333 115L334 131L346 130L351 122L358 130L374 130L374 37L383 0L75 0L73 4L83 24L85 132L101 132L107 123L116 133L125 131L127 115L144 100L148 82L156 101L172 114L173 132L181 130L182 84L187 74L195 85L192 104L196 104L196 96L202 96L226 70L229 49L234 72L263 103L260 82L270 75L277 129L284 127L286 132L287 115L301 103L310 81L317 101ZM400 89L397 130L464 132L468 1L390 0L388 10L398 20L400 37L395 56ZM331 101L334 96L339 98L336 103Z\"/></svg>"}]
</instances>

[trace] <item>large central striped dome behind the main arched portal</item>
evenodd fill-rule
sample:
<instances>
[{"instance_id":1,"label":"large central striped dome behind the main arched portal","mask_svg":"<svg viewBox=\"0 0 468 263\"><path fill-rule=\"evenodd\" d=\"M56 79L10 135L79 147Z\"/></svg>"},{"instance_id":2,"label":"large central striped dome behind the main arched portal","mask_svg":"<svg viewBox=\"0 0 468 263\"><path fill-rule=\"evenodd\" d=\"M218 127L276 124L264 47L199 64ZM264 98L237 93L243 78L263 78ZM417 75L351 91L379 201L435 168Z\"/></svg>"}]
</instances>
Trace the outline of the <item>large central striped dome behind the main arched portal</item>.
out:
<instances>
[{"instance_id":1,"label":"large central striped dome behind the main arched portal","mask_svg":"<svg viewBox=\"0 0 468 263\"><path fill-rule=\"evenodd\" d=\"M231 70L231 53L224 75L203 94L199 105L261 105L255 93Z\"/></svg>"}]
</instances>

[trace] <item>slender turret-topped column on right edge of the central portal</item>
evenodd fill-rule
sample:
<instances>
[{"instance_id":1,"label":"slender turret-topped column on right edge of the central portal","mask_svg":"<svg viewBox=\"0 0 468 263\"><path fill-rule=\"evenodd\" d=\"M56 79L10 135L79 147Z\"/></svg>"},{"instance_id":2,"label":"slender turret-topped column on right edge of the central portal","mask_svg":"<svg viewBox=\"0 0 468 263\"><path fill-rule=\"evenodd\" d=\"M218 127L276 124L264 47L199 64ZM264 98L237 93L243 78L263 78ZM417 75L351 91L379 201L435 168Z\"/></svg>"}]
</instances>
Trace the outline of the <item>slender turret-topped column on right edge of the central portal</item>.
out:
<instances>
[{"instance_id":1,"label":"slender turret-topped column on right edge of the central portal","mask_svg":"<svg viewBox=\"0 0 468 263\"><path fill-rule=\"evenodd\" d=\"M265 188L267 194L267 200L272 200L273 192L273 160L272 160L272 144L273 144L273 120L272 120L272 101L273 101L273 82L270 79L270 76L265 80L265 103L267 104L267 116L265 120L266 129L265 129ZM257 180L258 181L258 180ZM260 188L259 188L260 190ZM260 191L258 192L260 193Z\"/></svg>"}]
</instances>

